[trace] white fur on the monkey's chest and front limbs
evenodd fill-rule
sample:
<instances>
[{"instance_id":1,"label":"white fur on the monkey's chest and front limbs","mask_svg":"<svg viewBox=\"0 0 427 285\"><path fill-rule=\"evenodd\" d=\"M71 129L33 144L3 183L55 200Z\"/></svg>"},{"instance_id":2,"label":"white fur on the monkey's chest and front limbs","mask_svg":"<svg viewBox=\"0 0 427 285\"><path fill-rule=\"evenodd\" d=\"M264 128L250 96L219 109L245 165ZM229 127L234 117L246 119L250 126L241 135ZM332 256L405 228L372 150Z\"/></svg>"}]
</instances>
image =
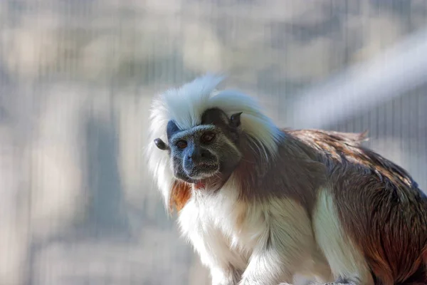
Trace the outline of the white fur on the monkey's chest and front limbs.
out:
<instances>
[{"instance_id":1,"label":"white fur on the monkey's chest and front limbs","mask_svg":"<svg viewBox=\"0 0 427 285\"><path fill-rule=\"evenodd\" d=\"M290 199L243 204L235 183L228 180L216 195L194 192L179 214L184 237L211 269L212 284L237 284L233 270L244 285L292 282L297 272L327 280L328 267L317 252L305 209ZM269 235L271 249L266 247Z\"/></svg>"}]
</instances>

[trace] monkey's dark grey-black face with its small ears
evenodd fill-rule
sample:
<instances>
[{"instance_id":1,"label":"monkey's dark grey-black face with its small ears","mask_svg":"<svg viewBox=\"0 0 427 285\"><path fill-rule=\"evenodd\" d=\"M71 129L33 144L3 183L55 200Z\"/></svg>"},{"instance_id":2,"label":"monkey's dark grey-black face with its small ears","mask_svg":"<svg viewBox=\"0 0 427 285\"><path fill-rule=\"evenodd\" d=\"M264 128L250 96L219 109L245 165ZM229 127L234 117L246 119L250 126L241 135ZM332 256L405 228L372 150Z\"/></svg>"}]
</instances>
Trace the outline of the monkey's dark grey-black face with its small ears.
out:
<instances>
[{"instance_id":1,"label":"monkey's dark grey-black face with its small ears","mask_svg":"<svg viewBox=\"0 0 427 285\"><path fill-rule=\"evenodd\" d=\"M180 130L173 120L167 125L167 146L155 140L161 150L169 150L174 175L194 184L222 185L241 160L238 150L240 115L228 118L217 108L204 112L201 125Z\"/></svg>"}]
</instances>

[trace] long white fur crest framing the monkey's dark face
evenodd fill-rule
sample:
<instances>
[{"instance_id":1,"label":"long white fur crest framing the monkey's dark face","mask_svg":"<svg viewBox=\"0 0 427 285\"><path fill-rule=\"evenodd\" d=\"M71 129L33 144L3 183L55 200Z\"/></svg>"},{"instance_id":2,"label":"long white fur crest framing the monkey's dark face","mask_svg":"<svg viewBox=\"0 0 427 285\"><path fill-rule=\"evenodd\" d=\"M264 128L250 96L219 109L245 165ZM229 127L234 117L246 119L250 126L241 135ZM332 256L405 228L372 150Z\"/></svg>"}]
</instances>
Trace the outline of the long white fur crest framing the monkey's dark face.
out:
<instances>
[{"instance_id":1,"label":"long white fur crest framing the monkey's dark face","mask_svg":"<svg viewBox=\"0 0 427 285\"><path fill-rule=\"evenodd\" d=\"M266 157L278 152L280 130L263 114L253 98L234 90L216 90L222 80L221 76L201 76L180 88L172 88L157 95L152 102L147 156L149 170L156 177L165 203L169 203L174 177L167 152L157 149L153 140L161 138L167 142L166 128L169 120L174 120L181 130L187 130L199 125L201 115L209 108L220 108L228 116L243 112L242 130L260 147L260 152L264 152Z\"/></svg>"}]
</instances>

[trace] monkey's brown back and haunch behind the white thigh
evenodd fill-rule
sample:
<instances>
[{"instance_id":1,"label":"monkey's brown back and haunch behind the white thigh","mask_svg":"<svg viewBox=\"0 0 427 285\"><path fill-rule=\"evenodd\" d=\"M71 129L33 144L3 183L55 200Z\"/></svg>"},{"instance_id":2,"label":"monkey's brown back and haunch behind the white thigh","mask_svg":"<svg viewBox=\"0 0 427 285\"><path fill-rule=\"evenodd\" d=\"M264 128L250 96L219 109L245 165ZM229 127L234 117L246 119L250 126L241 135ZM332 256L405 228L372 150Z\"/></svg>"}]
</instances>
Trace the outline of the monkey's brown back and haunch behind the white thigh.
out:
<instances>
[{"instance_id":1,"label":"monkey's brown back and haunch behind the white thigh","mask_svg":"<svg viewBox=\"0 0 427 285\"><path fill-rule=\"evenodd\" d=\"M427 197L408 172L363 147L365 133L285 132L325 165L342 227L376 284L427 284Z\"/></svg>"}]
</instances>

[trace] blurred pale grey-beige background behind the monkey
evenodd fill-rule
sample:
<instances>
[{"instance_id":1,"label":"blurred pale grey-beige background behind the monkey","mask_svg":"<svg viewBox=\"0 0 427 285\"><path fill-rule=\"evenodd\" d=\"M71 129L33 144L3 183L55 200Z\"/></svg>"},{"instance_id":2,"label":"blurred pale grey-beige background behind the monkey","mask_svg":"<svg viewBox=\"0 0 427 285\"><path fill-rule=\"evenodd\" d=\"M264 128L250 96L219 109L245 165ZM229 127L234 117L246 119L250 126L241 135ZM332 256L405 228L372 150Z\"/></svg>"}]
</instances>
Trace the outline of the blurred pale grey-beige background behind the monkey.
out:
<instances>
[{"instance_id":1,"label":"blurred pale grey-beige background behind the monkey","mask_svg":"<svg viewBox=\"0 0 427 285\"><path fill-rule=\"evenodd\" d=\"M426 28L423 0L1 0L0 284L209 284L143 157L152 96L208 71L426 190Z\"/></svg>"}]
</instances>

